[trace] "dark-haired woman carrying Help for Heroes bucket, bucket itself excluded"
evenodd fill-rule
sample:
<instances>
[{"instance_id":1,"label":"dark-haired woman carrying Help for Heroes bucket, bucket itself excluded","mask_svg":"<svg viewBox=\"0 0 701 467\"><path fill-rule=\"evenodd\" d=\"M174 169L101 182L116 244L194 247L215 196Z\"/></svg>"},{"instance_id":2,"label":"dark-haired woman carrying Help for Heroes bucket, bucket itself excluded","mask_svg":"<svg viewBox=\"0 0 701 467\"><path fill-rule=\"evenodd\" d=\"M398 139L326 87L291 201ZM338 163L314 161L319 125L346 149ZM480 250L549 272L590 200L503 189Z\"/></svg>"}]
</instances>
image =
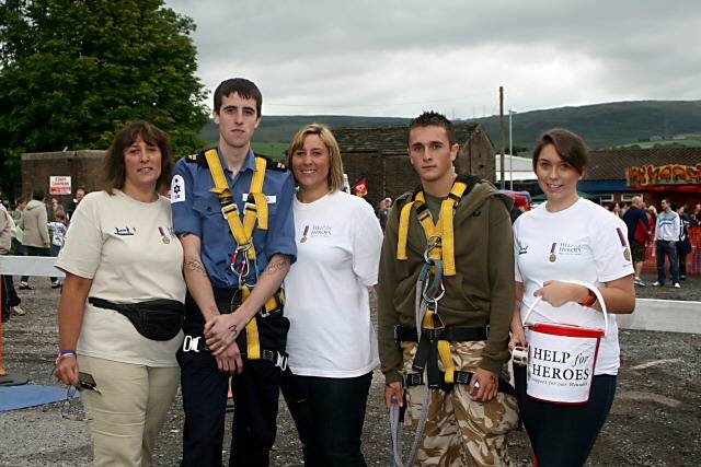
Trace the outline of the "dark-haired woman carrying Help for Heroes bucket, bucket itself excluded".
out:
<instances>
[{"instance_id":1,"label":"dark-haired woman carrying Help for Heroes bucket, bucket itself excluded","mask_svg":"<svg viewBox=\"0 0 701 467\"><path fill-rule=\"evenodd\" d=\"M597 288L609 314L633 312L633 265L625 224L577 195L577 182L587 162L584 141L565 129L543 133L533 151L533 171L548 201L514 223L516 306L510 348L527 345L521 319L537 296L542 300L528 324L602 327L601 306L594 292L563 281L576 280ZM514 367L521 418L538 466L584 465L616 394L616 317L609 316L586 405L556 405L531 398L526 394L526 367Z\"/></svg>"}]
</instances>

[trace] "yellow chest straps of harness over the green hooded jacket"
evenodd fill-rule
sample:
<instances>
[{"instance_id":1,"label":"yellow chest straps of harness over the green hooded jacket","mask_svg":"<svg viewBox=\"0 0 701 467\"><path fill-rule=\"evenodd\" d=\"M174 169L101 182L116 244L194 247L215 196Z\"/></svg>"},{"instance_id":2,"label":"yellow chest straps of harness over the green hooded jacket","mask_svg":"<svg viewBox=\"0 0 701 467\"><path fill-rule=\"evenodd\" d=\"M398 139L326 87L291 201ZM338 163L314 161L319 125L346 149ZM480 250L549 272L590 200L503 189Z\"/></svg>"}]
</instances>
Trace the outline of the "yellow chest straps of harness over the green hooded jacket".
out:
<instances>
[{"instance_id":1,"label":"yellow chest straps of harness over the green hooded jacket","mask_svg":"<svg viewBox=\"0 0 701 467\"><path fill-rule=\"evenodd\" d=\"M446 276L456 275L456 245L455 245L455 210L456 206L462 199L462 195L468 189L468 183L462 177L456 178L452 184L450 194L440 203L440 213L438 222L434 223L430 211L426 207L424 191L416 194L413 201L402 207L399 221L399 238L397 243L397 259L405 260L406 243L409 238L409 223L412 208L416 208L416 217L424 229L426 241L432 248L428 250L428 257L432 259L443 259L444 273ZM438 242L436 242L438 241Z\"/></svg>"}]
</instances>

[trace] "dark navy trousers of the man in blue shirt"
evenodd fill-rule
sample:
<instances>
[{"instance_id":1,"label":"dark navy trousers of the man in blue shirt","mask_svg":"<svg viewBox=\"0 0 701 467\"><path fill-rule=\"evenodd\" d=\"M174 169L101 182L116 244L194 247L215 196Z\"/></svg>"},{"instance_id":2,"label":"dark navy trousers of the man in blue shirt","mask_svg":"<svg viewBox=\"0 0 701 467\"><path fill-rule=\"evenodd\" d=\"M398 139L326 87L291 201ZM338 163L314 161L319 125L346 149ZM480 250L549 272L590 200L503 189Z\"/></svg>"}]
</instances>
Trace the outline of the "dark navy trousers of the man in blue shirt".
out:
<instances>
[{"instance_id":1,"label":"dark navy trousers of the man in blue shirt","mask_svg":"<svg viewBox=\"0 0 701 467\"><path fill-rule=\"evenodd\" d=\"M217 302L220 302L217 293ZM229 299L230 300L230 299ZM225 299L220 310L227 308ZM222 306L223 305L223 306ZM257 318L257 317L256 317ZM274 346L269 340L269 327L281 326L279 336L287 336L286 318L258 319L261 347L284 350L286 341ZM280 322L284 319L284 322ZM185 428L183 431L183 467L220 467L223 444L223 423L229 388L229 375L220 373L209 350L204 348L204 319L188 295L183 330L185 336L200 338L199 351L177 351L181 366L181 386ZM279 348L281 346L281 349ZM239 342L241 351L245 345ZM244 360L243 373L232 377L233 424L229 466L267 466L269 452L275 443L277 429L277 404L281 371L268 361Z\"/></svg>"}]
</instances>

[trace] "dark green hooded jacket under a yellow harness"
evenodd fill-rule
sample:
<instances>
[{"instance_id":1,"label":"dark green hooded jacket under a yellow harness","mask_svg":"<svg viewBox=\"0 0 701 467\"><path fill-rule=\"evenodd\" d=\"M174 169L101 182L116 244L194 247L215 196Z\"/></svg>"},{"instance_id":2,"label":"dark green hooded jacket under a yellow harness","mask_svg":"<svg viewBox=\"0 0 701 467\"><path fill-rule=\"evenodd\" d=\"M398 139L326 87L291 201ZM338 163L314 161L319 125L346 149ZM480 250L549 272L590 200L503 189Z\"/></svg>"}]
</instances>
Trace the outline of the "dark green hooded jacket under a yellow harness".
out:
<instances>
[{"instance_id":1,"label":"dark green hooded jacket under a yellow harness","mask_svg":"<svg viewBox=\"0 0 701 467\"><path fill-rule=\"evenodd\" d=\"M399 217L410 198L411 194L404 194L392 207L380 260L378 339L388 384L402 380L402 350L394 340L394 326L416 326L416 280L426 248L426 235L412 209L409 259L397 259ZM453 219L457 272L444 278L446 294L438 302L438 314L446 327L490 326L480 367L497 374L508 360L515 301L512 205L512 198L486 180L462 197Z\"/></svg>"}]
</instances>

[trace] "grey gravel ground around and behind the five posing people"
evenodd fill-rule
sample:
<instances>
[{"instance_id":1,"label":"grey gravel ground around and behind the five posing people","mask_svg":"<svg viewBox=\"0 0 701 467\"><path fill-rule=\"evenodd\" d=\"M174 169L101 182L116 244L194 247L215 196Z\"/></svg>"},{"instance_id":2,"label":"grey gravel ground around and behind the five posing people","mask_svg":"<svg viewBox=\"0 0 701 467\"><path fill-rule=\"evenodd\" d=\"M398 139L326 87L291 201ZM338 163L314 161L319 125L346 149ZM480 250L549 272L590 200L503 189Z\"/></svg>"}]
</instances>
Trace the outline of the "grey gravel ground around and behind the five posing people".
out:
<instances>
[{"instance_id":1,"label":"grey gravel ground around and behind the five posing people","mask_svg":"<svg viewBox=\"0 0 701 467\"><path fill-rule=\"evenodd\" d=\"M655 280L652 276L643 279L647 283ZM26 315L12 316L4 324L5 366L10 373L26 374L31 383L56 384L50 372L58 346L58 292L49 289L47 279L35 279L33 285L37 290L21 291ZM680 290L646 287L637 288L637 293L646 299L701 301L701 278L690 278ZM588 465L698 466L701 336L622 330L620 340L622 366L617 399ZM363 440L369 465L388 465L389 458L382 385L381 374L376 372ZM228 424L231 417L227 416ZM179 464L182 427L179 395L157 443L156 465ZM525 432L509 435L509 452L515 465L531 465ZM60 404L0 412L0 466L89 466L91 459L87 422L61 419ZM302 465L300 443L281 398L272 465Z\"/></svg>"}]
</instances>

